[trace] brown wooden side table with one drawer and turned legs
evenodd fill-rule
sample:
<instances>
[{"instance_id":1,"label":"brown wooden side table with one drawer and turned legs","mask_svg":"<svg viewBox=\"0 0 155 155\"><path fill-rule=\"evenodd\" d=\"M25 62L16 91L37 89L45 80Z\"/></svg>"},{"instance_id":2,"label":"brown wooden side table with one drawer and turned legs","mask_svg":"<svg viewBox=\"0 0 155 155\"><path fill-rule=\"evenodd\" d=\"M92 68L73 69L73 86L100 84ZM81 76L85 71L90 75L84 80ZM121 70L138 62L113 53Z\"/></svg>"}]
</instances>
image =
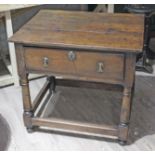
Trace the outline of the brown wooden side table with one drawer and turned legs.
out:
<instances>
[{"instance_id":1,"label":"brown wooden side table with one drawer and turned legs","mask_svg":"<svg viewBox=\"0 0 155 155\"><path fill-rule=\"evenodd\" d=\"M142 52L143 34L143 15L51 10L41 10L36 14L9 39L16 45L24 123L28 131L42 126L114 138L124 144L128 136L136 55ZM29 73L48 76L33 103ZM71 80L72 84L85 81L121 86L120 123L108 126L40 117L38 108L42 108L40 104L47 92L49 95L54 93L57 76L67 80L65 84L68 85Z\"/></svg>"}]
</instances>

